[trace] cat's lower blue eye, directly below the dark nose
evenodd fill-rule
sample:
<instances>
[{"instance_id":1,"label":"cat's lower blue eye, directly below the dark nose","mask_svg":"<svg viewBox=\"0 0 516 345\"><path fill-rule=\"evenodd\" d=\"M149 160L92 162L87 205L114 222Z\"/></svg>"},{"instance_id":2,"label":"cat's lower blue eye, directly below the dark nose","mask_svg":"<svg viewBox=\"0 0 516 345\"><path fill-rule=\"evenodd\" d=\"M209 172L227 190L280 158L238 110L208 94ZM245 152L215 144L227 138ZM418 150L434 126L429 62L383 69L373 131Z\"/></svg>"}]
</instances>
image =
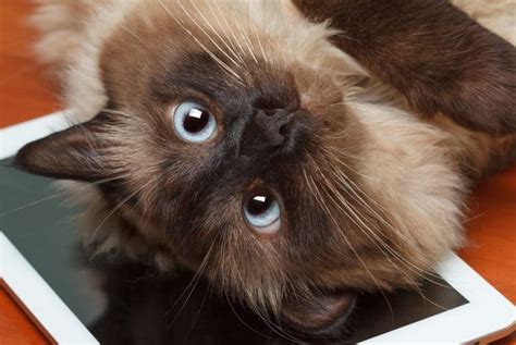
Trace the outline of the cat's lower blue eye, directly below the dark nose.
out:
<instances>
[{"instance_id":1,"label":"cat's lower blue eye, directly below the dark nose","mask_svg":"<svg viewBox=\"0 0 516 345\"><path fill-rule=\"evenodd\" d=\"M245 199L244 217L259 235L272 235L280 230L280 202L268 189L251 190Z\"/></svg>"}]
</instances>

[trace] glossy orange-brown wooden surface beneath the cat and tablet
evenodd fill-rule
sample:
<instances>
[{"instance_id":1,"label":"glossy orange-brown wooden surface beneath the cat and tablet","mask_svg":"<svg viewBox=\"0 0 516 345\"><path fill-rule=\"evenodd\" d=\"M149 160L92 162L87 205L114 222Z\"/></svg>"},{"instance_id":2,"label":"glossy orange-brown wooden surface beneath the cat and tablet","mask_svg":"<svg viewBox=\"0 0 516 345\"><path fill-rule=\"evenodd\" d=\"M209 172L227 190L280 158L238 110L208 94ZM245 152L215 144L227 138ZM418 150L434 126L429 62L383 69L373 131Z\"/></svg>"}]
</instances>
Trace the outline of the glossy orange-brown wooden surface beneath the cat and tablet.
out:
<instances>
[{"instance_id":1,"label":"glossy orange-brown wooden surface beneath the cat and tablet","mask_svg":"<svg viewBox=\"0 0 516 345\"><path fill-rule=\"evenodd\" d=\"M42 66L30 52L30 42L36 37L25 24L30 8L29 1L0 0L0 127L59 109L52 86L45 81ZM516 167L481 184L471 197L470 208L470 220L466 224L469 243L459 255L514 304ZM5 297L1 298L5 300ZM9 312L14 312L13 317L5 317ZM12 308L0 308L0 318L19 322L14 315ZM0 325L3 319L0 319ZM29 333L23 318L20 320L17 326L8 331ZM0 340L5 335L4 331L0 328ZM513 342L514 337L503 343Z\"/></svg>"}]
</instances>

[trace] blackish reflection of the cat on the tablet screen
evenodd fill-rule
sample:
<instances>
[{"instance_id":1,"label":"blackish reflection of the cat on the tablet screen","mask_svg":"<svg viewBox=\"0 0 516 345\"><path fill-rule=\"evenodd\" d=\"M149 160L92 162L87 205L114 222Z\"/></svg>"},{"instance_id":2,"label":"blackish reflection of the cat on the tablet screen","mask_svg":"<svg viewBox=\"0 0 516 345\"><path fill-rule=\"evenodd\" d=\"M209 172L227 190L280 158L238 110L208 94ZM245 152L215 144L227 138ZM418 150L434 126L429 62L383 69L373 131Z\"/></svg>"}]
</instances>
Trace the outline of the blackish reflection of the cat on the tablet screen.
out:
<instances>
[{"instance_id":1,"label":"blackish reflection of the cat on the tablet screen","mask_svg":"<svg viewBox=\"0 0 516 345\"><path fill-rule=\"evenodd\" d=\"M363 295L339 334L306 336L255 315L194 272L163 274L121 257L85 262L106 298L103 313L88 325L101 344L356 343L467 303L432 278L419 293Z\"/></svg>"}]
</instances>

